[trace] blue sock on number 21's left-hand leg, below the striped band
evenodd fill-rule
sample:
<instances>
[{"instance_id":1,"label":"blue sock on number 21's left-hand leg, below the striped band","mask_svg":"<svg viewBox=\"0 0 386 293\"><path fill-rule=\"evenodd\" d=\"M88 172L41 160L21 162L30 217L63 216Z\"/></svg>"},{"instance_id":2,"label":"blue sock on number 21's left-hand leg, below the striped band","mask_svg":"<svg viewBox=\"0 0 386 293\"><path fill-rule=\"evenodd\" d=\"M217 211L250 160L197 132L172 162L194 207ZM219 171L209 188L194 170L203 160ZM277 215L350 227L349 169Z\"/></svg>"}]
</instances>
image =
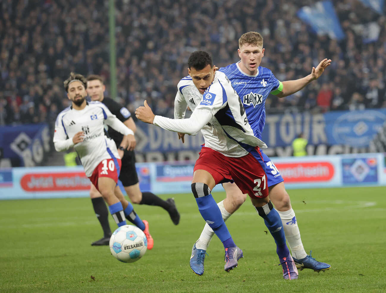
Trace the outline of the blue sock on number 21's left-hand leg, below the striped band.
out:
<instances>
[{"instance_id":1,"label":"blue sock on number 21's left-hand leg, below the striped band","mask_svg":"<svg viewBox=\"0 0 386 293\"><path fill-rule=\"evenodd\" d=\"M198 210L201 216L213 229L217 237L221 240L224 248L236 246L225 222L221 216L220 209L216 201L213 199L212 194L196 198Z\"/></svg>"}]
</instances>

